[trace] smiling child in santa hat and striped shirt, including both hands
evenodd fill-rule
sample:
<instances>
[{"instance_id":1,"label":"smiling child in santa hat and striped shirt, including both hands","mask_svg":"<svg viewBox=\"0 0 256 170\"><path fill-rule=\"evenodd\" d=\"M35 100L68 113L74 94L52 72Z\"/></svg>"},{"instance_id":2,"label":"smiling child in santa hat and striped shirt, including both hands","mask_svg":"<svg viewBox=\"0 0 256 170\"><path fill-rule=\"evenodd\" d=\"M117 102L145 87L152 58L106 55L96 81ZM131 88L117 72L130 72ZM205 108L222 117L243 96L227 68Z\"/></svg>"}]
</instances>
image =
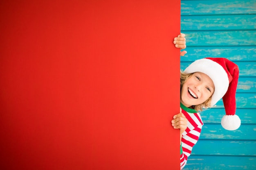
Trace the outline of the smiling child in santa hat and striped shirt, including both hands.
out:
<instances>
[{"instance_id":1,"label":"smiling child in santa hat and striped shirt, including both hands","mask_svg":"<svg viewBox=\"0 0 256 170\"><path fill-rule=\"evenodd\" d=\"M183 34L175 37L173 43L177 48L186 48L184 37ZM198 111L213 107L222 98L226 111L222 127L239 128L241 121L235 115L238 72L238 66L225 58L198 59L180 72L181 108L171 121L174 129L180 129L180 169L186 165L201 133L203 122Z\"/></svg>"}]
</instances>

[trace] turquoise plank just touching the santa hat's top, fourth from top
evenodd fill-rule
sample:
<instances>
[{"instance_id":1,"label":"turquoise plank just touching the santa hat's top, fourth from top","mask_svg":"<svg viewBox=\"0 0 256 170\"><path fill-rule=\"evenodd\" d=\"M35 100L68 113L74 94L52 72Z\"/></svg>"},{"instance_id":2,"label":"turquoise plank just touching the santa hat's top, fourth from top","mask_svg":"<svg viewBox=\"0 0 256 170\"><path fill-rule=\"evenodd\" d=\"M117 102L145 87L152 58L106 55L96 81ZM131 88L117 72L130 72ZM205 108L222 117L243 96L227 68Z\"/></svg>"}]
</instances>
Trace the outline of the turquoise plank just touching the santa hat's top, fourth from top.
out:
<instances>
[{"instance_id":1,"label":"turquoise plank just touching the santa hat's top, fourth from top","mask_svg":"<svg viewBox=\"0 0 256 170\"><path fill-rule=\"evenodd\" d=\"M256 25L256 24L255 24ZM189 35L186 35L189 39ZM187 43L187 45L190 45ZM204 57L225 57L231 61L256 61L256 46L207 46L187 47L187 54L180 61L195 61Z\"/></svg>"}]
</instances>

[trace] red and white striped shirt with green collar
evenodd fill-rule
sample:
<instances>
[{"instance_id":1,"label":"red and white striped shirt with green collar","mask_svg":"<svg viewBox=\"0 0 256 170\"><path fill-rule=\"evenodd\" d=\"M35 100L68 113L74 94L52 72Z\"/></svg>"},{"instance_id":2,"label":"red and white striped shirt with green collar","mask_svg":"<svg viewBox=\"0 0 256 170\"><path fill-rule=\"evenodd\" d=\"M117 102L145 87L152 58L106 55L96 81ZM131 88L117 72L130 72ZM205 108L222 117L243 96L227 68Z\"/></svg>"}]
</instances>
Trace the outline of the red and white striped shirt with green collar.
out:
<instances>
[{"instance_id":1,"label":"red and white striped shirt with green collar","mask_svg":"<svg viewBox=\"0 0 256 170\"><path fill-rule=\"evenodd\" d=\"M188 120L187 128L182 133L181 139L182 153L180 155L180 169L182 169L186 165L193 146L198 142L203 122L200 114L195 109L187 108L181 103L180 107L182 108L182 113Z\"/></svg>"}]
</instances>

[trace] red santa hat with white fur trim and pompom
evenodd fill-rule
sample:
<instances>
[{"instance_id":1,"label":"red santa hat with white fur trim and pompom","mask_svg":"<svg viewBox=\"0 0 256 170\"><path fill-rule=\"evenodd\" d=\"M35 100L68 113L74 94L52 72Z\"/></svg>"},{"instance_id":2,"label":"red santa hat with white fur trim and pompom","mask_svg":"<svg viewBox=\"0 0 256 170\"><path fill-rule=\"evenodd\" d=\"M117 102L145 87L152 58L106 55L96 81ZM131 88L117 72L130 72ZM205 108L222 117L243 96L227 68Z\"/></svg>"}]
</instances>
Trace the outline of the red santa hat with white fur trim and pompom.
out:
<instances>
[{"instance_id":1,"label":"red santa hat with white fur trim and pompom","mask_svg":"<svg viewBox=\"0 0 256 170\"><path fill-rule=\"evenodd\" d=\"M186 74L194 72L202 72L212 79L215 90L211 97L211 106L222 98L226 111L221 120L222 127L230 131L238 129L241 124L240 118L235 115L238 66L225 58L209 57L194 61L184 70Z\"/></svg>"}]
</instances>

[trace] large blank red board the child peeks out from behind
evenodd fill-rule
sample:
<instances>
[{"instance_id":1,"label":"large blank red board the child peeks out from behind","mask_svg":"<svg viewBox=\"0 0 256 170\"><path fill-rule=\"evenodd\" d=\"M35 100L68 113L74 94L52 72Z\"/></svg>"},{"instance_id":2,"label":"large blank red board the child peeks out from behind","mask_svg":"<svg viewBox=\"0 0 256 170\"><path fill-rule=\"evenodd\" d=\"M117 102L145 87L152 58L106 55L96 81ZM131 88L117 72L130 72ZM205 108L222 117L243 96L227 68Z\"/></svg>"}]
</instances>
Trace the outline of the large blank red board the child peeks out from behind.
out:
<instances>
[{"instance_id":1,"label":"large blank red board the child peeks out from behind","mask_svg":"<svg viewBox=\"0 0 256 170\"><path fill-rule=\"evenodd\" d=\"M4 0L4 170L178 170L178 0Z\"/></svg>"}]
</instances>

